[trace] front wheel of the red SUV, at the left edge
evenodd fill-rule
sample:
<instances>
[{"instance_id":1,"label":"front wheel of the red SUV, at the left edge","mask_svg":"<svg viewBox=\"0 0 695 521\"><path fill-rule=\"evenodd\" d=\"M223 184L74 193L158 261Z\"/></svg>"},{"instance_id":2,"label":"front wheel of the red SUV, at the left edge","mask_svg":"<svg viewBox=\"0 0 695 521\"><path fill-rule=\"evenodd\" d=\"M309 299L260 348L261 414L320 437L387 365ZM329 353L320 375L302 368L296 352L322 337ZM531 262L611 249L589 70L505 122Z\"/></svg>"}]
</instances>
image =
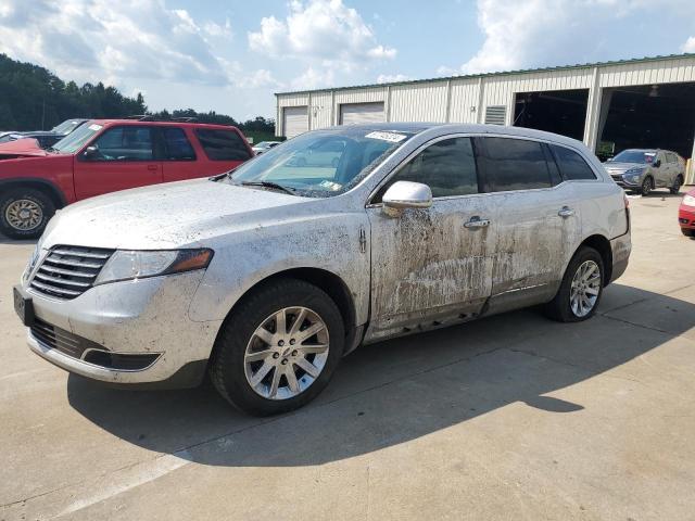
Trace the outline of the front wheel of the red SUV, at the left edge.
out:
<instances>
[{"instance_id":1,"label":"front wheel of the red SUV, at the left edge","mask_svg":"<svg viewBox=\"0 0 695 521\"><path fill-rule=\"evenodd\" d=\"M45 192L14 188L0 195L0 230L12 239L36 239L55 213Z\"/></svg>"}]
</instances>

